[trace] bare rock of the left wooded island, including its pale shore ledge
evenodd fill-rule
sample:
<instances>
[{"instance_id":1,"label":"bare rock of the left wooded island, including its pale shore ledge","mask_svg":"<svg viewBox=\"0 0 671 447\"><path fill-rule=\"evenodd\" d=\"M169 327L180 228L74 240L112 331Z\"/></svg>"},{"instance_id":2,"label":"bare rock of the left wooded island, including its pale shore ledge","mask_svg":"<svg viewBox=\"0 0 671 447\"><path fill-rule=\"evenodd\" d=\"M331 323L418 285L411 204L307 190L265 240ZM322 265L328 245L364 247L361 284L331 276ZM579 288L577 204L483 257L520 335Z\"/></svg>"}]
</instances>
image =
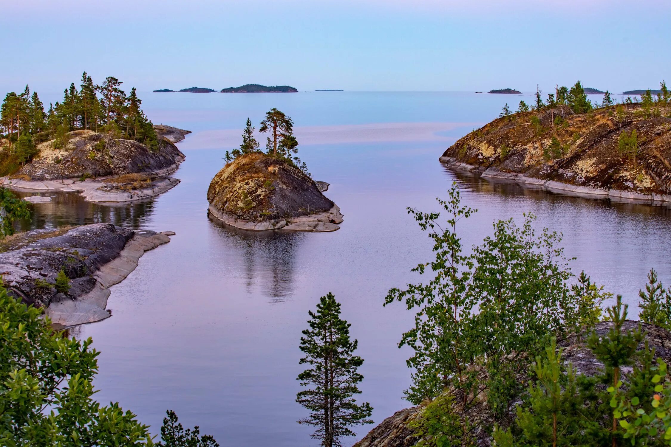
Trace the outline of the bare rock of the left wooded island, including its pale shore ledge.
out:
<instances>
[{"instance_id":1,"label":"bare rock of the left wooded island, including its pale shore ledge","mask_svg":"<svg viewBox=\"0 0 671 447\"><path fill-rule=\"evenodd\" d=\"M55 140L37 147L37 155L15 174L0 178L11 189L35 192L81 191L90 202L130 202L156 196L179 183L168 176L184 161L174 143L190 131L165 125L154 127L158 147L150 149L131 139L109 139L92 130L68 133L64 147ZM29 201L37 201L32 196Z\"/></svg>"}]
</instances>

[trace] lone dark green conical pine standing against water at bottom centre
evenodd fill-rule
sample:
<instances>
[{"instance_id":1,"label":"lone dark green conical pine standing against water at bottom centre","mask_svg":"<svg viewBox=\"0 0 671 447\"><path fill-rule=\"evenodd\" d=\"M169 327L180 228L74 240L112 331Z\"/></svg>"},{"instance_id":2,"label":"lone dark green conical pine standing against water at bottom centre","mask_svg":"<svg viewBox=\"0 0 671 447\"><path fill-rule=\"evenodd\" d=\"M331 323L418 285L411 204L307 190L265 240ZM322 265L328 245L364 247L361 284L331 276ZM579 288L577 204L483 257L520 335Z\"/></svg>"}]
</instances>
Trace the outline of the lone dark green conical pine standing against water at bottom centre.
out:
<instances>
[{"instance_id":1,"label":"lone dark green conical pine standing against water at bottom centre","mask_svg":"<svg viewBox=\"0 0 671 447\"><path fill-rule=\"evenodd\" d=\"M372 407L358 404L352 398L361 393L357 384L363 376L357 372L364 363L354 355L357 340L350 340L350 326L340 318L340 303L333 294L320 298L317 312L309 311L309 329L303 330L300 364L310 365L299 374L301 386L313 387L299 391L296 401L312 411L299 424L317 427L311 435L324 447L342 446L340 438L354 436L349 426L372 424Z\"/></svg>"}]
</instances>

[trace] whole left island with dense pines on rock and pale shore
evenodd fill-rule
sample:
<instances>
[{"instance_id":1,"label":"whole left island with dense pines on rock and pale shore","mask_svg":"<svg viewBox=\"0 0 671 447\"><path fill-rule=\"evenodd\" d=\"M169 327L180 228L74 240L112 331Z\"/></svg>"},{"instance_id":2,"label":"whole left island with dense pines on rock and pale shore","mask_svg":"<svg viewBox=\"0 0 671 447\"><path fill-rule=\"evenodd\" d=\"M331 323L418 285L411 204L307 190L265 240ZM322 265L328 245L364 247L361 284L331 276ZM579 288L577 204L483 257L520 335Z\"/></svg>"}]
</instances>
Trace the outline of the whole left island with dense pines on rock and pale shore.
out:
<instances>
[{"instance_id":1,"label":"whole left island with dense pines on rock and pale shore","mask_svg":"<svg viewBox=\"0 0 671 447\"><path fill-rule=\"evenodd\" d=\"M189 131L154 127L135 88L113 76L94 84L86 72L48 111L28 86L1 109L0 183L33 192L81 191L93 202L156 196L178 184L168 176L185 159L174 145Z\"/></svg>"}]
</instances>

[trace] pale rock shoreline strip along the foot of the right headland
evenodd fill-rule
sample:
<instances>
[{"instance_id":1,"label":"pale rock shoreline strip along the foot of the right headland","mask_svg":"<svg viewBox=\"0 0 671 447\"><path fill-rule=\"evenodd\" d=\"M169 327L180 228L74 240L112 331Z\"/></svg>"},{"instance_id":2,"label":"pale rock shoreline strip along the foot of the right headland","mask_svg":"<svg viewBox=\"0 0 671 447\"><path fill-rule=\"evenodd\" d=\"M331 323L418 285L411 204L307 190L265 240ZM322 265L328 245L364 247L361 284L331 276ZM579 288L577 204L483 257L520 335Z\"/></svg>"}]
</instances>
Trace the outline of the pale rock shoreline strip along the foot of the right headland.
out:
<instances>
[{"instance_id":1,"label":"pale rock shoreline strip along the foot of the right headland","mask_svg":"<svg viewBox=\"0 0 671 447\"><path fill-rule=\"evenodd\" d=\"M560 191L582 198L608 198L616 202L635 202L650 205L671 202L671 194L643 194L641 192L615 189L606 190L601 188L591 188L589 186L578 186L564 182L557 182L556 180L542 180L540 178L529 177L515 172L503 172L495 167L483 168L481 166L473 166L460 162L454 157L442 156L438 158L438 161L450 168L479 173L480 176L484 178L509 180L525 187L535 186L538 188L544 188L548 191Z\"/></svg>"}]
</instances>

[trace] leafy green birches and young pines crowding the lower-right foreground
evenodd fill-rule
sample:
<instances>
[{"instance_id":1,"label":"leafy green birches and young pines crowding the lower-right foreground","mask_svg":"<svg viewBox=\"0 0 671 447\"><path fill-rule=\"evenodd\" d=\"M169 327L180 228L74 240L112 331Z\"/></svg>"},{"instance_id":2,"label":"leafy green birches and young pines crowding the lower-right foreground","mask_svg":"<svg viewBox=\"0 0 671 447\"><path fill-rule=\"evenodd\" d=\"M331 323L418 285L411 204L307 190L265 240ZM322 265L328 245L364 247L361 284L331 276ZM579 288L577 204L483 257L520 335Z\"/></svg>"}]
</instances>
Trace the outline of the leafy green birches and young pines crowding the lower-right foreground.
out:
<instances>
[{"instance_id":1,"label":"leafy green birches and young pines crowding the lower-right foreground","mask_svg":"<svg viewBox=\"0 0 671 447\"><path fill-rule=\"evenodd\" d=\"M472 446L484 432L500 447L671 446L666 365L655 361L640 328L625 330L621 296L603 315L612 296L603 286L584 272L568 285L560 236L535 233L530 216L521 227L495 222L494 235L464 254L456 225L474 210L460 204L456 186L439 202L445 227L438 213L409 210L435 252L435 261L414 270L435 277L386 299L417 312L399 343L415 351L406 393L424 404L410 422L417 445ZM641 320L668 327L670 293L654 270L648 282L639 292ZM602 318L611 328L599 335ZM588 335L580 340L580 333ZM564 363L557 336L582 342L603 367L586 376ZM486 426L478 426L483 416Z\"/></svg>"}]
</instances>

